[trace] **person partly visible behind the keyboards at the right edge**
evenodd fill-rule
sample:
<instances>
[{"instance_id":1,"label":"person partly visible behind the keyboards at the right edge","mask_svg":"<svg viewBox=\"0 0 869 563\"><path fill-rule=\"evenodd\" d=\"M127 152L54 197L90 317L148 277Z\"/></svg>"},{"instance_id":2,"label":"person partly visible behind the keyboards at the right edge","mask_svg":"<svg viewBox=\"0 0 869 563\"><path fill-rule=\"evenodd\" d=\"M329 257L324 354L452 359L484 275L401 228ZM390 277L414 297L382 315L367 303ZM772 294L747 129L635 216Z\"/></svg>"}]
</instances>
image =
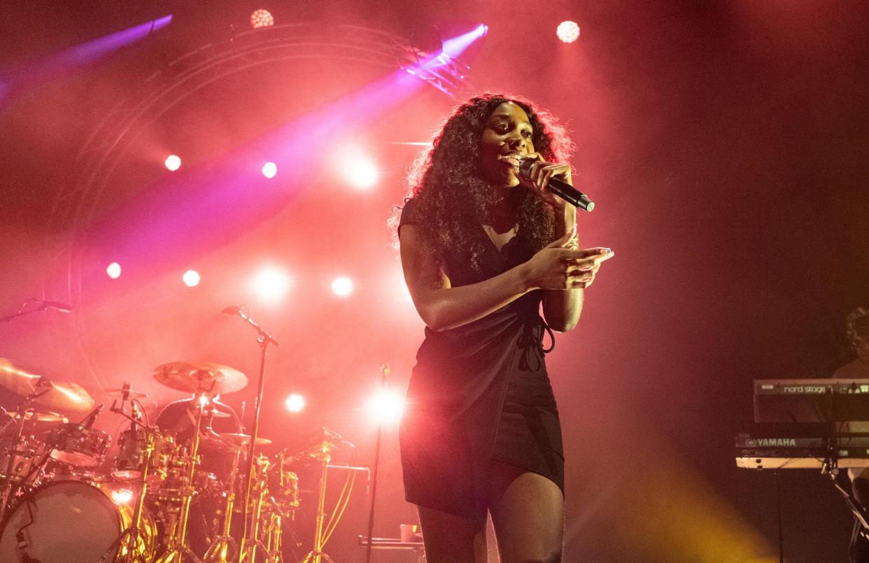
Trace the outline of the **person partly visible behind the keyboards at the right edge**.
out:
<instances>
[{"instance_id":1,"label":"person partly visible behind the keyboards at the right edge","mask_svg":"<svg viewBox=\"0 0 869 563\"><path fill-rule=\"evenodd\" d=\"M857 358L836 370L833 377L869 379L869 308L858 307L850 312L846 318L846 328L848 339L851 341L854 352L857 353ZM842 432L865 432L869 434L869 422L847 422L843 425ZM869 468L848 469L848 477L851 479L854 498L866 512L866 509L869 508ZM869 538L866 537L866 533L861 529L856 519L851 537L851 561L852 563L869 563Z\"/></svg>"}]
</instances>

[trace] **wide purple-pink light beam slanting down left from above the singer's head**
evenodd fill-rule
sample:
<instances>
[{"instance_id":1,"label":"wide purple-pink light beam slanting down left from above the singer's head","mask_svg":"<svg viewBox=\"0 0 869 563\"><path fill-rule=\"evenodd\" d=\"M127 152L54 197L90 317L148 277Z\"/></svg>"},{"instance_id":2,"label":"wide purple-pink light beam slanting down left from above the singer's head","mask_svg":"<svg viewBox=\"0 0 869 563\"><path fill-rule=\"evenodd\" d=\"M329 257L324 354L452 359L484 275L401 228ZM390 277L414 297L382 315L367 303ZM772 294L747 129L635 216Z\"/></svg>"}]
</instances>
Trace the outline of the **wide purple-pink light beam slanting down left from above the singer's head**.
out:
<instances>
[{"instance_id":1,"label":"wide purple-pink light beam slanting down left from above the singer's head","mask_svg":"<svg viewBox=\"0 0 869 563\"><path fill-rule=\"evenodd\" d=\"M480 25L448 39L444 50L415 69L423 72L444 64L443 57L459 56L484 33L485 26ZM187 174L172 174L163 185L143 191L102 224L94 225L91 240L105 241L101 243L107 246L104 255L145 263L151 271L189 262L190 257L224 245L250 225L273 217L307 184L311 170L325 164L320 159L328 157L328 147L339 134L364 130L423 87L425 82L409 74L407 68L391 71L235 149L231 155L219 155ZM284 189L254 190L263 180L259 174L251 174L249 163L262 154L273 156L275 170L282 171L280 185ZM299 154L311 158L299 165ZM251 197L253 191L256 197ZM217 218L222 225L220 232L212 228ZM167 244L179 240L185 244Z\"/></svg>"}]
</instances>

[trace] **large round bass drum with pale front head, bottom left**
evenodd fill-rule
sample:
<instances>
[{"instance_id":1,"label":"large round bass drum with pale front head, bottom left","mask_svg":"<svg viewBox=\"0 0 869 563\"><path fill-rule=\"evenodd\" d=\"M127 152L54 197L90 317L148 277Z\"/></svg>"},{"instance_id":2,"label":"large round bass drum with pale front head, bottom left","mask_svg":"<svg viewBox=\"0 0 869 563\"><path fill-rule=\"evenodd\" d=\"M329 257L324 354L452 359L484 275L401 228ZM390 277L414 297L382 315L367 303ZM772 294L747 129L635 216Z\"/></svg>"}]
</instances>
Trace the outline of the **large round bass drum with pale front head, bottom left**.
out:
<instances>
[{"instance_id":1,"label":"large round bass drum with pale front head, bottom left","mask_svg":"<svg viewBox=\"0 0 869 563\"><path fill-rule=\"evenodd\" d=\"M23 496L6 519L0 559L96 563L123 557L129 540L123 546L116 542L133 520L135 499L129 497L129 491L111 485L56 481L42 486ZM156 526L147 511L136 543L136 560L154 559Z\"/></svg>"}]
</instances>

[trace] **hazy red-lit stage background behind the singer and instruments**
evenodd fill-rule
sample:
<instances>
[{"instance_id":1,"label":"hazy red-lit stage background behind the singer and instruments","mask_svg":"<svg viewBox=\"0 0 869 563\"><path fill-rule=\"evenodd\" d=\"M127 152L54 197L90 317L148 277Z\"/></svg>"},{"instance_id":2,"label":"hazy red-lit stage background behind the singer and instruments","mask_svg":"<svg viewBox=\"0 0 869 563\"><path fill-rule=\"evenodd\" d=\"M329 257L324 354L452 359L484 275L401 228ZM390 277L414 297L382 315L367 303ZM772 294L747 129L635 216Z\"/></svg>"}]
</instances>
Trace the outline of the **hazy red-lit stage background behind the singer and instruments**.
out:
<instances>
[{"instance_id":1,"label":"hazy red-lit stage background behind the singer and instruments","mask_svg":"<svg viewBox=\"0 0 869 563\"><path fill-rule=\"evenodd\" d=\"M303 117L346 109L348 96L395 70L388 63L278 62L225 77L143 127L78 211L64 208L82 174L76 151L117 99L135 99L145 77L184 52L229 40L229 23L243 29L255 8L277 23L321 23L324 34L355 23L415 41L435 25L450 36L486 23L488 36L461 56L468 82L561 118L577 144L576 184L598 205L580 217L581 243L615 251L580 326L549 356L567 449L566 560L778 560L777 486L786 560L846 560L851 519L830 483L738 470L733 437L752 428L753 379L831 375L851 359L847 312L869 304L869 3L147 4L0 12L0 315L34 297L76 307L0 325L0 357L73 379L97 402L131 381L161 405L182 393L157 385L151 368L224 363L252 381L225 397L238 407L254 395L258 351L248 328L219 312L250 303L282 342L263 404L272 452L322 425L355 442L341 461L369 466L375 426L363 406L380 362L403 388L422 336L386 225L419 147L391 143L427 141L458 100L422 87L330 123L336 142L375 155L381 179L365 192L335 179L340 153L324 159L298 139L322 135ZM30 72L169 13L167 28L101 61ZM564 19L580 24L575 44L554 35ZM259 164L243 182L209 176L248 165L239 147L286 124L255 151L263 160L291 151L292 183L286 168L258 176ZM169 152L184 159L171 182ZM85 225L74 245L55 220L63 213ZM103 271L119 254L124 273L112 281ZM247 287L265 263L292 272L277 305L256 303ZM202 274L195 288L181 283L191 267ZM340 273L356 282L345 299L328 289ZM300 415L282 405L291 391L308 397ZM103 413L97 426L115 433L121 421ZM384 439L380 537L415 521L395 428ZM314 486L302 475L302 540ZM367 510L360 479L326 548L335 560L364 560L356 538Z\"/></svg>"}]
</instances>

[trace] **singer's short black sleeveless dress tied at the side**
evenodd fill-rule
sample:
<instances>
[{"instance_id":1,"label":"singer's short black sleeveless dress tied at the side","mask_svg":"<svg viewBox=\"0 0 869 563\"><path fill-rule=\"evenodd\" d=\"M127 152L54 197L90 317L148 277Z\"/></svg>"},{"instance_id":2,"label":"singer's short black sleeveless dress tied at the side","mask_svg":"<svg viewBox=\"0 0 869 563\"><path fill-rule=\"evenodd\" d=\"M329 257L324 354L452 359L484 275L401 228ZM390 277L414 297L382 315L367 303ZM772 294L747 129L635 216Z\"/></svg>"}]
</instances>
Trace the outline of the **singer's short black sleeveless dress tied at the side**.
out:
<instances>
[{"instance_id":1,"label":"singer's short black sleeveless dress tied at the side","mask_svg":"<svg viewBox=\"0 0 869 563\"><path fill-rule=\"evenodd\" d=\"M413 225L414 200L401 212ZM481 270L447 257L451 284L492 278L534 254L513 238L498 251L485 231ZM467 325L428 326L416 354L401 419L405 498L466 518L485 515L493 460L539 473L564 491L561 424L542 343L552 331L540 315L543 292L528 292ZM551 350L551 348L550 348Z\"/></svg>"}]
</instances>

